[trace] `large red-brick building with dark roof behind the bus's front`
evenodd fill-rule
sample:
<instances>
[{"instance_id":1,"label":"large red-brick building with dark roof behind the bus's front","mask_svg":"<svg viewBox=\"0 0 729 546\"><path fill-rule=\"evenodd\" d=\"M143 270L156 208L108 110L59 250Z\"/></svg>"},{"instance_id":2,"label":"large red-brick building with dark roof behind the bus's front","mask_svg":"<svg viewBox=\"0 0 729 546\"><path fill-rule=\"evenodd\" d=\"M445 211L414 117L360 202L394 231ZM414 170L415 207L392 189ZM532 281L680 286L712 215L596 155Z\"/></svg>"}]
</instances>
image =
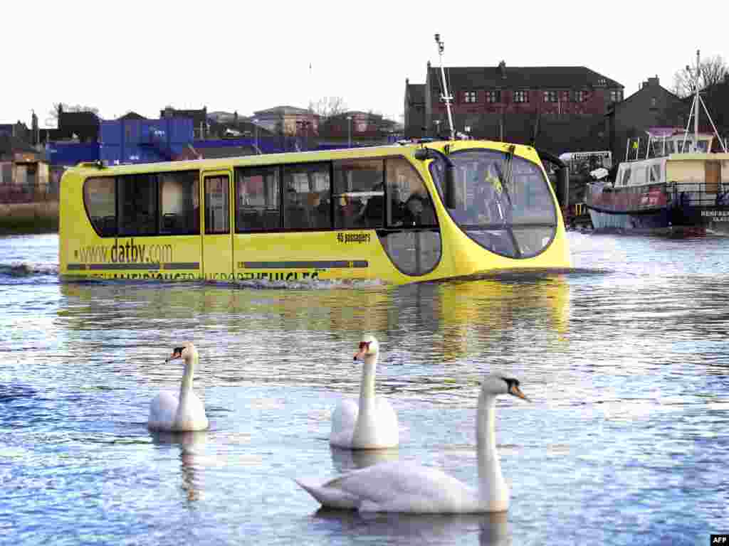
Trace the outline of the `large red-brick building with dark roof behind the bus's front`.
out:
<instances>
[{"instance_id":1,"label":"large red-brick building with dark roof behind the bus's front","mask_svg":"<svg viewBox=\"0 0 729 546\"><path fill-rule=\"evenodd\" d=\"M547 143L553 151L604 149L604 114L623 99L623 85L585 66L445 68L453 128L475 138ZM424 98L406 84L405 133L448 136L440 67L427 64ZM409 96L408 96L409 95ZM424 105L424 115L418 107ZM595 149L595 148L593 148Z\"/></svg>"}]
</instances>

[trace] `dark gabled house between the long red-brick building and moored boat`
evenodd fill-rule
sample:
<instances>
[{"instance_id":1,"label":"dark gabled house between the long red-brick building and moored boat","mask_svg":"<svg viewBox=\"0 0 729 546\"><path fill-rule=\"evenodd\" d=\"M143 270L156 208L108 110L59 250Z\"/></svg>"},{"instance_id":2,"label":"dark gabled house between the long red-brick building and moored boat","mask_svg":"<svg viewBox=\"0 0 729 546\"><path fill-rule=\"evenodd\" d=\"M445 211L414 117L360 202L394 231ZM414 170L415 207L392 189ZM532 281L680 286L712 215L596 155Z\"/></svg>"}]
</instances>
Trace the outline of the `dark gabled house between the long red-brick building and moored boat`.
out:
<instances>
[{"instance_id":1,"label":"dark gabled house between the long red-brick building and moored boat","mask_svg":"<svg viewBox=\"0 0 729 546\"><path fill-rule=\"evenodd\" d=\"M613 162L617 164L625 160L628 138L644 138L651 127L684 127L692 100L693 97L679 98L661 87L658 76L655 76L642 82L633 95L611 104L605 119L608 149L612 151Z\"/></svg>"}]
</instances>

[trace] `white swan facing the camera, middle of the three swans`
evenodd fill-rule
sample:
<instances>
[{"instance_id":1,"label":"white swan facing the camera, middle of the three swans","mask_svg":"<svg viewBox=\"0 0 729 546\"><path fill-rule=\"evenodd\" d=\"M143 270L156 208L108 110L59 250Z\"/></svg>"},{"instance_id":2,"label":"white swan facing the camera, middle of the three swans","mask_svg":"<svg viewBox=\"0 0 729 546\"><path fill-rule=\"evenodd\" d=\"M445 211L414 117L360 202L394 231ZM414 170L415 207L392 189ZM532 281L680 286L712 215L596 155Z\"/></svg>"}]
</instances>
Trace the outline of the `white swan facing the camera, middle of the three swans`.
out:
<instances>
[{"instance_id":1,"label":"white swan facing the camera, middle of the three swans","mask_svg":"<svg viewBox=\"0 0 729 546\"><path fill-rule=\"evenodd\" d=\"M330 444L347 449L383 449L397 446L397 414L385 397L375 396L375 367L380 346L374 336L364 336L354 360L361 358L359 403L342 400L332 414Z\"/></svg>"}]
</instances>

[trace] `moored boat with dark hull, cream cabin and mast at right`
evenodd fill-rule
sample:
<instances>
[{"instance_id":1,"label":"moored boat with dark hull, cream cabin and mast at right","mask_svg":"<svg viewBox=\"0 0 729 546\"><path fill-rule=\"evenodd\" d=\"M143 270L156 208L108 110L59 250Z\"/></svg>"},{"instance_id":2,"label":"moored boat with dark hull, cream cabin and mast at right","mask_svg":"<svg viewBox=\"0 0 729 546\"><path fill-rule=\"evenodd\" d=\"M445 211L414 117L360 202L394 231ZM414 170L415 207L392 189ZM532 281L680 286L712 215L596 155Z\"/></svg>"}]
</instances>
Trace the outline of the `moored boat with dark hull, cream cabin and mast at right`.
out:
<instances>
[{"instance_id":1,"label":"moored boat with dark hull, cream cabin and mast at right","mask_svg":"<svg viewBox=\"0 0 729 546\"><path fill-rule=\"evenodd\" d=\"M585 205L594 229L675 237L729 230L729 153L698 80L695 90L685 129L654 127L644 146L629 139L615 178L588 183ZM713 133L698 130L700 106Z\"/></svg>"}]
</instances>

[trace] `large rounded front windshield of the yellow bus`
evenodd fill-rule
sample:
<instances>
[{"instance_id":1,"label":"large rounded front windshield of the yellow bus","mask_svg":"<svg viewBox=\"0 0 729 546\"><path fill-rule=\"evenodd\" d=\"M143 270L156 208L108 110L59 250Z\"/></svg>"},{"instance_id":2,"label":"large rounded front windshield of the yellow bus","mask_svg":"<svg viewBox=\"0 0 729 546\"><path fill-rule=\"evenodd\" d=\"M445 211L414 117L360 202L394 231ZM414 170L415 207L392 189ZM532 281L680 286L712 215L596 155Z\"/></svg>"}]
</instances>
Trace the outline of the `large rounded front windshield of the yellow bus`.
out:
<instances>
[{"instance_id":1,"label":"large rounded front windshield of the yellow bus","mask_svg":"<svg viewBox=\"0 0 729 546\"><path fill-rule=\"evenodd\" d=\"M446 210L472 240L510 258L531 258L547 248L557 229L557 210L539 165L486 149L456 151L448 158L455 166L456 207ZM430 172L443 198L444 160L434 159Z\"/></svg>"}]
</instances>

